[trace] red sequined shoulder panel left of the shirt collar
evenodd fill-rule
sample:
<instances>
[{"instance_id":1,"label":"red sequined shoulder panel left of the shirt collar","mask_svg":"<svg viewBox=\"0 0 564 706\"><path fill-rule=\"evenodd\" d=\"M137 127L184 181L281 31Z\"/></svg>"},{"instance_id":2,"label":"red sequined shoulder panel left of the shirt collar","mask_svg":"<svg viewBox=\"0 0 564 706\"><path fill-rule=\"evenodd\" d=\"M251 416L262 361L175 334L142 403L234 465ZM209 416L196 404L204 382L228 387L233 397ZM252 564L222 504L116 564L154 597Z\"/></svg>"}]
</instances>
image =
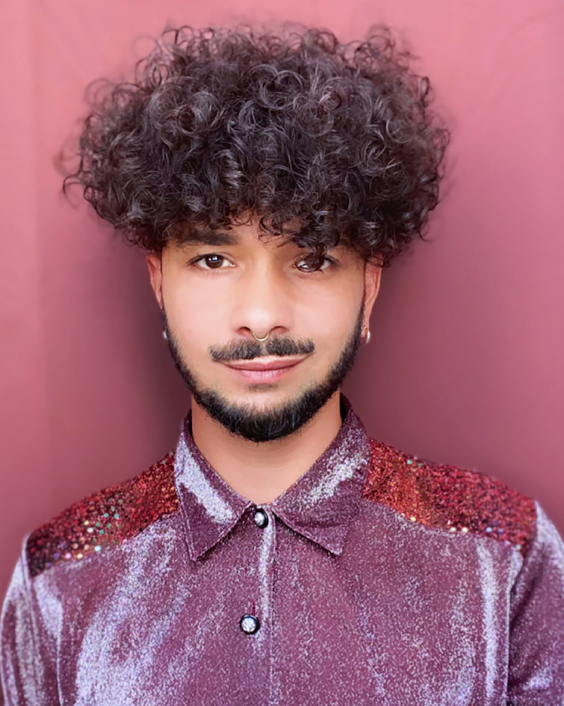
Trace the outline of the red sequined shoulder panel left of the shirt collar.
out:
<instances>
[{"instance_id":1,"label":"red sequined shoulder panel left of the shirt collar","mask_svg":"<svg viewBox=\"0 0 564 706\"><path fill-rule=\"evenodd\" d=\"M59 561L77 561L135 537L178 509L174 454L135 478L71 505L30 534L28 566L37 576Z\"/></svg>"}]
</instances>

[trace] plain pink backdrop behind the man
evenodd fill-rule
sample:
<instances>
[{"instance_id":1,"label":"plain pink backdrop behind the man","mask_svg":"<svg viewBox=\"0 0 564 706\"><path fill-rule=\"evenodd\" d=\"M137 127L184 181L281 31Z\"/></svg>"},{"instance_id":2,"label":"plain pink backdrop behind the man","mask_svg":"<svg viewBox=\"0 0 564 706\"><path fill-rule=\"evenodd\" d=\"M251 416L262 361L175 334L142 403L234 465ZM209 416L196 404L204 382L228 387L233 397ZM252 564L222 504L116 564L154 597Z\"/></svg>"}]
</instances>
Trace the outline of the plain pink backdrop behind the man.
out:
<instances>
[{"instance_id":1,"label":"plain pink backdrop behind the man","mask_svg":"<svg viewBox=\"0 0 564 706\"><path fill-rule=\"evenodd\" d=\"M0 14L0 591L25 532L148 467L188 407L143 258L61 197L53 165L85 85L126 72L166 23L290 19L354 39L383 21L422 57L451 176L428 243L385 273L347 393L373 436L493 474L564 530L562 0L3 0Z\"/></svg>"}]
</instances>

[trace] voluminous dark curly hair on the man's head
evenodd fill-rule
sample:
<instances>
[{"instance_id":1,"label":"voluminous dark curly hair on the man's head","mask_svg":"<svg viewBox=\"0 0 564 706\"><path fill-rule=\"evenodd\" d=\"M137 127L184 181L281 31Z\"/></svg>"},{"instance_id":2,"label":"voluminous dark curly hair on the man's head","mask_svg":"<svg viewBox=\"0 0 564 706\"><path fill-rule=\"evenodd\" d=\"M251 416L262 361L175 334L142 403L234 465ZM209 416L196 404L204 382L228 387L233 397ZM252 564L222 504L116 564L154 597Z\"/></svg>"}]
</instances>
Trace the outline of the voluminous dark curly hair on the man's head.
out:
<instances>
[{"instance_id":1,"label":"voluminous dark curly hair on the man's head","mask_svg":"<svg viewBox=\"0 0 564 706\"><path fill-rule=\"evenodd\" d=\"M131 83L97 92L65 186L157 253L251 214L318 254L342 243L386 265L437 205L448 143L410 59L383 26L349 44L170 30Z\"/></svg>"}]
</instances>

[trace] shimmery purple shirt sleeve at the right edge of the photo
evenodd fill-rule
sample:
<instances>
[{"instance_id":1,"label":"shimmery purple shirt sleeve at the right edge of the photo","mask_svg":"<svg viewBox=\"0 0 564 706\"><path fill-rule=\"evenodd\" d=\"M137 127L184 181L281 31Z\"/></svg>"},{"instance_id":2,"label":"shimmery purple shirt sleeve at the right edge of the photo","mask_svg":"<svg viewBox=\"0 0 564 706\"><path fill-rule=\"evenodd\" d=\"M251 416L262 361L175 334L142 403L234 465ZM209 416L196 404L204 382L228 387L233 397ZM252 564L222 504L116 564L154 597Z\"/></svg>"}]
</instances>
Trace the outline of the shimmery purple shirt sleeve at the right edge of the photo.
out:
<instances>
[{"instance_id":1,"label":"shimmery purple shirt sleeve at the right edge of the photo","mask_svg":"<svg viewBox=\"0 0 564 706\"><path fill-rule=\"evenodd\" d=\"M564 543L538 503L512 590L508 705L564 705Z\"/></svg>"}]
</instances>

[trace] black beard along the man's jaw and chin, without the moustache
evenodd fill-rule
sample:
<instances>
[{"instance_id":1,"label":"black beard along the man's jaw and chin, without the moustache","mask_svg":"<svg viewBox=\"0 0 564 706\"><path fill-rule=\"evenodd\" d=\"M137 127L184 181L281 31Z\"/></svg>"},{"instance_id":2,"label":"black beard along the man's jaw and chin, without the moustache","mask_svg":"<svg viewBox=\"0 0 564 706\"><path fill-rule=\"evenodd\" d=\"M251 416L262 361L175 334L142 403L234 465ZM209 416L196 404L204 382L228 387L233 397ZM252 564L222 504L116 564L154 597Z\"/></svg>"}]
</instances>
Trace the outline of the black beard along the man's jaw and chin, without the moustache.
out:
<instances>
[{"instance_id":1,"label":"black beard along the man's jaw and chin, without the moustache","mask_svg":"<svg viewBox=\"0 0 564 706\"><path fill-rule=\"evenodd\" d=\"M364 306L361 307L354 331L347 345L335 365L332 366L325 381L312 385L295 400L265 412L254 412L251 407L246 405L237 407L230 404L214 390L199 388L194 376L181 358L174 336L169 330L166 316L164 317L164 330L167 333L167 341L176 369L188 385L197 404L236 436L242 436L248 441L274 441L289 436L304 426L340 388L342 381L352 368L361 343L363 313ZM272 342L275 340L273 339ZM300 342L297 342L296 346L299 347L299 345ZM258 351L255 352L255 356L258 354ZM237 357L244 358L246 356L241 354Z\"/></svg>"}]
</instances>

